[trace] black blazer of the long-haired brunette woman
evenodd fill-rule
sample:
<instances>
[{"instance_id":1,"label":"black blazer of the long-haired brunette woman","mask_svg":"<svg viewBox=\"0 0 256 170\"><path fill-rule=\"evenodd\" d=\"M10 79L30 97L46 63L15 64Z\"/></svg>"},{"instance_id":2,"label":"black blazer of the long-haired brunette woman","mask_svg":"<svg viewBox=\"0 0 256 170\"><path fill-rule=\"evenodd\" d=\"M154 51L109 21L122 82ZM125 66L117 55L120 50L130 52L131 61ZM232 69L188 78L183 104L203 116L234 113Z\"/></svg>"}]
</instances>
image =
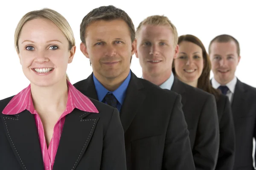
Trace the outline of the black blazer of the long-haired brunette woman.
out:
<instances>
[{"instance_id":1,"label":"black blazer of the long-haired brunette woman","mask_svg":"<svg viewBox=\"0 0 256 170\"><path fill-rule=\"evenodd\" d=\"M215 170L233 170L235 162L235 127L230 102L221 94L217 100L220 149Z\"/></svg>"}]
</instances>

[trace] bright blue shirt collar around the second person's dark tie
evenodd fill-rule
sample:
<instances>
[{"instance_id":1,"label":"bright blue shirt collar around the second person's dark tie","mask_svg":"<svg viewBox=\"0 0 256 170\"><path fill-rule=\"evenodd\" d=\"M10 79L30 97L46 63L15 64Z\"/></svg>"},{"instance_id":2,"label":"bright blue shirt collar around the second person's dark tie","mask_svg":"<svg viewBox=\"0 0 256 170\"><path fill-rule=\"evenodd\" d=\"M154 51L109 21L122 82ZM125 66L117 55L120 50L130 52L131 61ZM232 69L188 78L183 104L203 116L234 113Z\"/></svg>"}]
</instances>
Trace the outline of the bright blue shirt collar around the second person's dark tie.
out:
<instances>
[{"instance_id":1,"label":"bright blue shirt collar around the second person's dark tie","mask_svg":"<svg viewBox=\"0 0 256 170\"><path fill-rule=\"evenodd\" d=\"M94 85L97 91L99 101L102 102L106 94L113 93L117 101L122 105L125 99L125 92L129 85L130 79L131 79L131 70L128 76L126 77L125 81L122 82L119 88L117 88L115 91L108 91L93 74L93 81L94 81Z\"/></svg>"}]
</instances>

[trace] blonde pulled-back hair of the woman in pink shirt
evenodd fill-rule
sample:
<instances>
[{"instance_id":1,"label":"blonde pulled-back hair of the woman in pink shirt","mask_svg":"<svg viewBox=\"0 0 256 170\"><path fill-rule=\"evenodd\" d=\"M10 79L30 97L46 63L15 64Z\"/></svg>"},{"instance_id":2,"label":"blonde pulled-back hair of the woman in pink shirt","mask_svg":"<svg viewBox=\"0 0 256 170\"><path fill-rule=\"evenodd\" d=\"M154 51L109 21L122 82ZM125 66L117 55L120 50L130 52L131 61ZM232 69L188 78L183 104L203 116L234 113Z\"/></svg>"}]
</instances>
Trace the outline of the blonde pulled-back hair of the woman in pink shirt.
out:
<instances>
[{"instance_id":1,"label":"blonde pulled-back hair of the woman in pink shirt","mask_svg":"<svg viewBox=\"0 0 256 170\"><path fill-rule=\"evenodd\" d=\"M17 53L20 53L18 41L20 38L20 32L22 30L22 27L26 22L33 19L37 19L37 18L45 18L55 23L56 26L58 26L58 28L60 28L61 31L64 33L64 35L67 37L67 40L69 42L69 50L71 50L71 48L76 44L73 31L69 23L67 22L67 20L57 11L54 11L49 8L43 8L41 10L35 10L35 11L30 11L26 13L17 24L17 27L15 29L15 35L14 35L14 43L15 43L15 49ZM66 78L67 80L69 80L67 75L66 75Z\"/></svg>"}]
</instances>

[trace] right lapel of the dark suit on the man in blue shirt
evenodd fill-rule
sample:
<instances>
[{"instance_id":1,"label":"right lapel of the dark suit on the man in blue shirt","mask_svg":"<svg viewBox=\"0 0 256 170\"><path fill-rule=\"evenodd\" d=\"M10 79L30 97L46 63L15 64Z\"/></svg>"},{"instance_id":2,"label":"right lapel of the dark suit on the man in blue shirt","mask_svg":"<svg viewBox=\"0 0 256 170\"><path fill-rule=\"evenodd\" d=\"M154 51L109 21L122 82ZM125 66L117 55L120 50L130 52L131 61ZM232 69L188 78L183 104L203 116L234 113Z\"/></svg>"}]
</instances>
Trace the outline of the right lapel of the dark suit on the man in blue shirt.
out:
<instances>
[{"instance_id":1,"label":"right lapel of the dark suit on the man in blue shirt","mask_svg":"<svg viewBox=\"0 0 256 170\"><path fill-rule=\"evenodd\" d=\"M140 106L143 104L145 99L145 94L142 91L143 88L144 87L140 82L140 79L131 72L131 80L126 91L124 104L120 111L120 119L124 132L126 132L128 127L131 125L132 120Z\"/></svg>"}]
</instances>

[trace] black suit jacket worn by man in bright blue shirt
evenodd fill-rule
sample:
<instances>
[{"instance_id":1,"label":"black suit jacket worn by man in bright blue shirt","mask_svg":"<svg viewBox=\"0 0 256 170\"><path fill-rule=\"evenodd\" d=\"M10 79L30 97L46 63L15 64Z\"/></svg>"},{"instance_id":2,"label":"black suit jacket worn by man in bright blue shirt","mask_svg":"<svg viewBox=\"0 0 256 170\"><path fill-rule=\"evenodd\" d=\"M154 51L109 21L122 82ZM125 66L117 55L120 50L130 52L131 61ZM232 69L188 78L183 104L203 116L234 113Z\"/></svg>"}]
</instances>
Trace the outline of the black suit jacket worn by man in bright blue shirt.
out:
<instances>
[{"instance_id":1,"label":"black suit jacket worn by man in bright blue shirt","mask_svg":"<svg viewBox=\"0 0 256 170\"><path fill-rule=\"evenodd\" d=\"M98 99L93 74L74 86ZM131 73L120 111L127 170L195 170L180 99Z\"/></svg>"}]
</instances>

